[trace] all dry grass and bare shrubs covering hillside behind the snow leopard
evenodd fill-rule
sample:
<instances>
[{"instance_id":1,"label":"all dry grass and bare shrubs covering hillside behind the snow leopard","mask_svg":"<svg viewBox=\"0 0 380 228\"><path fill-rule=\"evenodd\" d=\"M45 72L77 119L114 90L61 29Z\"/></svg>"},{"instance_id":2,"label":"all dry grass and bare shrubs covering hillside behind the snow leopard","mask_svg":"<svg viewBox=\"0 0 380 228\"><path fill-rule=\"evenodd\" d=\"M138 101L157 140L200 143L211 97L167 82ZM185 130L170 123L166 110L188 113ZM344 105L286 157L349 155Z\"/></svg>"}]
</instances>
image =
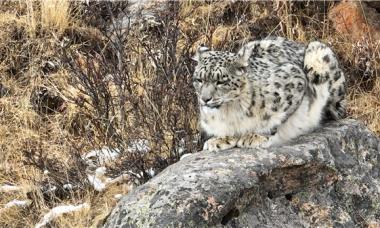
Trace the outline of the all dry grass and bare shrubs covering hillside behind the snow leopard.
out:
<instances>
[{"instance_id":1,"label":"all dry grass and bare shrubs covering hillside behind the snow leopard","mask_svg":"<svg viewBox=\"0 0 380 228\"><path fill-rule=\"evenodd\" d=\"M0 226L33 226L52 207L80 203L91 208L51 225L97 226L115 194L199 149L190 57L200 44L236 50L268 35L330 44L349 79L350 115L380 135L379 43L336 33L327 18L334 4L172 2L136 28L114 20L126 2L1 2L0 186L22 190L1 193L0 205L31 204L0 211ZM131 149L141 140L149 151ZM107 175L130 178L97 192L83 155L104 146L121 154Z\"/></svg>"}]
</instances>

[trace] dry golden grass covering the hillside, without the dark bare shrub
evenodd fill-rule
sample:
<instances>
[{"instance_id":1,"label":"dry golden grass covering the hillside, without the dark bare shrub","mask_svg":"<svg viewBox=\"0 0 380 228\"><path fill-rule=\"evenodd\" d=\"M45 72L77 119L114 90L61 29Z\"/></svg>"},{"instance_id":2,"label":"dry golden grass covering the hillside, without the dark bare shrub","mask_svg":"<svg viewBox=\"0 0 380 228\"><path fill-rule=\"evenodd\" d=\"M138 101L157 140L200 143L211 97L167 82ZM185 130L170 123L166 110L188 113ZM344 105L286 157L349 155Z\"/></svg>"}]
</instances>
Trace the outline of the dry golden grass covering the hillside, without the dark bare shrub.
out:
<instances>
[{"instance_id":1,"label":"dry golden grass covering the hillside, without the dark bare shrub","mask_svg":"<svg viewBox=\"0 0 380 228\"><path fill-rule=\"evenodd\" d=\"M8 227L9 224L12 224L12 227L33 226L53 206L85 202L91 205L90 210L63 216L52 225L96 227L115 205L117 200L114 199L114 195L126 194L129 185L114 185L102 193L84 188L67 199L55 199L50 202L43 199L42 191L39 189L39 184L46 180L47 175L35 166L25 165L28 160L25 154L34 151L37 154L33 156L37 156L38 152L42 151L46 155L45 161L59 161L62 173L68 173L72 168L73 148L86 152L97 146L107 145L108 139L103 137L101 131L97 131L89 119L94 116L94 110L72 102L73 97L84 100L88 98L81 94L78 87L73 86L70 71L60 64L56 70L45 70L47 61L60 61L58 52L64 36L75 40L71 48L79 54L95 50L94 44L105 47L102 43L104 37L99 28L85 24L77 15L73 16L74 10L69 1L42 1L38 5L35 1L28 0L1 4L0 83L9 88L10 92L8 96L0 98L0 185L12 183L22 186L24 190L1 194L0 208L12 199L29 198L34 203L26 209L10 208L0 211L0 227ZM190 41L195 41L192 50L202 43L213 48L236 50L247 40L267 35L286 36L300 42L314 39L325 41L338 53L349 78L350 115L363 120L371 130L380 135L380 62L376 59L380 53L379 45L365 42L353 44L336 34L326 19L326 8L332 3L326 6L313 3L315 5L308 7L302 4L182 2L179 13L181 36L177 53L184 53ZM152 132L161 127L164 129L163 136L160 136L162 140L174 142L176 137L173 132L176 129L170 125L176 123L182 126L186 121L195 132L196 107L184 115L187 116L186 121L182 116L182 119L173 122L168 110L181 112L182 106L170 103L170 97L166 97L163 102L171 104L170 108L161 110L157 107L151 94L159 93L160 90L150 90L155 85L155 68L144 65L147 61L146 53L137 41L128 45L136 47L133 65L136 70L132 75L133 83L136 84L134 94L139 98L139 102L146 102L152 110L152 115L160 120L160 123L148 125L151 129L147 129L141 135L153 141L157 140ZM182 75L174 77L171 83L176 85L181 79L179 77ZM63 97L64 107L49 115L36 111L30 98L40 86ZM109 86L113 96L117 94L115 85ZM164 88L164 91L172 93L179 90L180 88ZM186 99L189 99L192 94L183 96L188 96ZM140 129L142 126L135 128ZM141 129L143 130L146 129ZM128 133L123 134L126 134L124 137L128 137ZM172 144L168 143L167 146L157 146L157 149L168 156L171 147ZM30 192L34 192L32 197L27 194Z\"/></svg>"}]
</instances>

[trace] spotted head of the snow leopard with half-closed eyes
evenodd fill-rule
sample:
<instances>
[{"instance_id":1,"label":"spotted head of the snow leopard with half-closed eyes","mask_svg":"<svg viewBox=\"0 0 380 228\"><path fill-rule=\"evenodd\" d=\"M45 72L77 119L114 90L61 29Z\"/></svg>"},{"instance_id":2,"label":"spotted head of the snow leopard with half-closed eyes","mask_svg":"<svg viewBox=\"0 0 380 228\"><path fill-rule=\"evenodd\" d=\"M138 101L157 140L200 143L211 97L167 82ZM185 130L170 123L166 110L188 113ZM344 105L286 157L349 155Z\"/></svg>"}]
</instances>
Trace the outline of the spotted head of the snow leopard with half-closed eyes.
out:
<instances>
[{"instance_id":1,"label":"spotted head of the snow leopard with half-closed eyes","mask_svg":"<svg viewBox=\"0 0 380 228\"><path fill-rule=\"evenodd\" d=\"M248 58L244 49L235 54L198 48L193 57L197 62L193 85L201 107L217 109L240 99L249 87Z\"/></svg>"}]
</instances>

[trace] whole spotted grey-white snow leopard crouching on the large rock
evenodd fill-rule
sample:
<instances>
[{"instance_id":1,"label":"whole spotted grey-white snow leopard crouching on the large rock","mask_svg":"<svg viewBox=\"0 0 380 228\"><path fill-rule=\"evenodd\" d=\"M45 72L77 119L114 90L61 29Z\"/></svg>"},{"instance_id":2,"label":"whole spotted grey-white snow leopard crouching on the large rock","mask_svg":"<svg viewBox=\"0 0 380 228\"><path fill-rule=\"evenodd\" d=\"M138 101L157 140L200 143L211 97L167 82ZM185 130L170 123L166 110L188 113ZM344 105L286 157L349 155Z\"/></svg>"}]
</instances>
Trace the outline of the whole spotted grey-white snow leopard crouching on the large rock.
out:
<instances>
[{"instance_id":1,"label":"whole spotted grey-white snow leopard crouching on the large rock","mask_svg":"<svg viewBox=\"0 0 380 228\"><path fill-rule=\"evenodd\" d=\"M345 117L345 77L326 44L270 37L237 53L197 49L204 150L280 146Z\"/></svg>"}]
</instances>

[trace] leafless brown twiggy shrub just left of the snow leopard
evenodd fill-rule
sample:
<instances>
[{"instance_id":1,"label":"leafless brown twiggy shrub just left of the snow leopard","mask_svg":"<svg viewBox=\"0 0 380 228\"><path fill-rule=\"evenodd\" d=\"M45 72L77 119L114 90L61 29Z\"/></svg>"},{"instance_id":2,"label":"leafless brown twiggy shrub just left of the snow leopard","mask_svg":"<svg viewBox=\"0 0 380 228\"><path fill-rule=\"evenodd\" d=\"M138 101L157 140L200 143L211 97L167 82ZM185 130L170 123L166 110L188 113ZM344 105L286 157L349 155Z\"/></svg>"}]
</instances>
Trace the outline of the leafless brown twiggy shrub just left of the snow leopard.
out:
<instances>
[{"instance_id":1,"label":"leafless brown twiggy shrub just left of the snow leopard","mask_svg":"<svg viewBox=\"0 0 380 228\"><path fill-rule=\"evenodd\" d=\"M70 45L62 49L72 86L80 91L70 99L85 110L95 129L89 142L118 148L123 159L111 169L128 170L142 182L151 177L148 170L160 171L185 150L196 150L192 43L178 53L179 3L168 4L170 10L153 27L125 27L117 15L104 17L112 18L112 33L103 32L101 52L75 53ZM131 151L141 140L149 142L149 152Z\"/></svg>"}]
</instances>

